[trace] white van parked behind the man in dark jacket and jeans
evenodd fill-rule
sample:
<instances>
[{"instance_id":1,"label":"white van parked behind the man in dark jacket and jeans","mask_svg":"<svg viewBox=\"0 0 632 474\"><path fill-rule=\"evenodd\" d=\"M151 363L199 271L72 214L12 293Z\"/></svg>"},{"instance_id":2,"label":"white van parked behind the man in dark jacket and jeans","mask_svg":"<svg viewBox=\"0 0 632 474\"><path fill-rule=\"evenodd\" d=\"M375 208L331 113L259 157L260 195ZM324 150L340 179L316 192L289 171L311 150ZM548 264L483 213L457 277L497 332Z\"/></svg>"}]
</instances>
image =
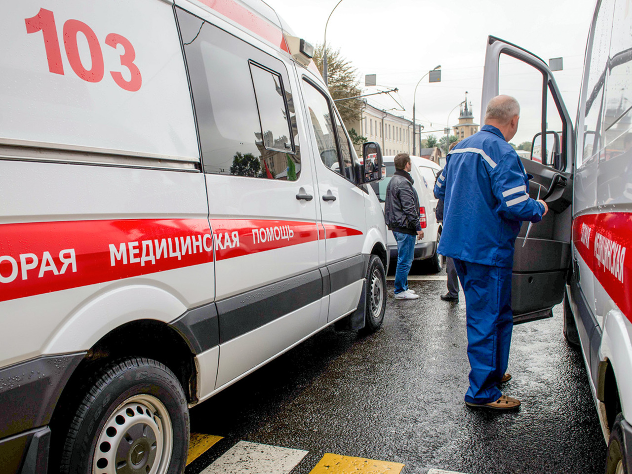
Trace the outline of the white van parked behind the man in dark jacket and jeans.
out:
<instances>
[{"instance_id":1,"label":"white van parked behind the man in dark jacket and jeans","mask_svg":"<svg viewBox=\"0 0 632 474\"><path fill-rule=\"evenodd\" d=\"M382 181L373 183L371 186L375 194L382 203L384 209L384 200L386 199L386 186L391 181L393 173L395 173L395 156L384 157L384 167L386 168L386 178ZM421 224L423 230L423 238L415 242L415 260L425 260L428 270L431 272L441 271L441 257L437 253L439 239L441 239L442 225L437 222L435 209L437 207L437 199L432 192L437 172L441 170L439 165L434 162L411 155L411 171L415 183L413 188L417 191L419 197L419 213L421 216ZM393 265L397 264L397 241L392 231L388 231L387 246Z\"/></svg>"}]
</instances>

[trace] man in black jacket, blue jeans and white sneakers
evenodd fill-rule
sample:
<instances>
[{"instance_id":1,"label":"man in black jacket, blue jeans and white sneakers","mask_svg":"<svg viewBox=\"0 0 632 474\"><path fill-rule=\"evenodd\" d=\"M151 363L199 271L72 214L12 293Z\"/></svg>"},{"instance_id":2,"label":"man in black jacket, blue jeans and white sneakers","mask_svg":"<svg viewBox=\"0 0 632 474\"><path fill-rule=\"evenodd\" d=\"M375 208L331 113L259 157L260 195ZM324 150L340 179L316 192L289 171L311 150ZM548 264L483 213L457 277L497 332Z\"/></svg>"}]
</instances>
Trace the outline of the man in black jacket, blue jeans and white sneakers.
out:
<instances>
[{"instance_id":1,"label":"man in black jacket, blue jeans and white sneakers","mask_svg":"<svg viewBox=\"0 0 632 474\"><path fill-rule=\"evenodd\" d=\"M397 269L395 271L395 298L416 300L419 295L408 289L408 272L415 256L415 242L423 238L419 216L419 197L410 176L411 161L408 153L400 153L395 159L395 173L386 186L384 216L397 241Z\"/></svg>"}]
</instances>

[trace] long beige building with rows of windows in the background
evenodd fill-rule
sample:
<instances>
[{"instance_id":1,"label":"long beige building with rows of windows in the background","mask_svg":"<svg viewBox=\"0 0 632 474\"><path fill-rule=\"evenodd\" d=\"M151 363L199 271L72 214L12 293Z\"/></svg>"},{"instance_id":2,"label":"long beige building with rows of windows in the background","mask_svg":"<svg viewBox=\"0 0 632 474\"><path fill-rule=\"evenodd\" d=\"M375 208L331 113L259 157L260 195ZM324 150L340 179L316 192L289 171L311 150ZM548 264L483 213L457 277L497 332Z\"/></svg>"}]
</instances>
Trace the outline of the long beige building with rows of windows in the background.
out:
<instances>
[{"instance_id":1,"label":"long beige building with rows of windows in the background","mask_svg":"<svg viewBox=\"0 0 632 474\"><path fill-rule=\"evenodd\" d=\"M367 137L369 142L377 142L382 147L382 155L396 155L401 152L413 153L413 122L390 112L383 111L367 102L362 106L360 122L346 124L355 128L358 135ZM419 128L419 125L417 125ZM417 130L419 131L419 130ZM417 149L420 137L416 135ZM362 154L362 147L356 146L358 155Z\"/></svg>"}]
</instances>

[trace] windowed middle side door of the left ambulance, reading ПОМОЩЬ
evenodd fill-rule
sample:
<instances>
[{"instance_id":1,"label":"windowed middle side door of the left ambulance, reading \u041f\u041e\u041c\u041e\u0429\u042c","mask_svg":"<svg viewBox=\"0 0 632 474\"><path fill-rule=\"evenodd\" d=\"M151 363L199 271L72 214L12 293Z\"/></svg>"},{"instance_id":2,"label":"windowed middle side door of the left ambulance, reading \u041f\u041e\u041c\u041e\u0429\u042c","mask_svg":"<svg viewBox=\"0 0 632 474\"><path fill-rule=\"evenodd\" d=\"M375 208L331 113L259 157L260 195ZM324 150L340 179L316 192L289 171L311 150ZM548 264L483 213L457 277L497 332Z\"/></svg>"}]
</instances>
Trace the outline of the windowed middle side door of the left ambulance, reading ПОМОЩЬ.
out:
<instances>
[{"instance_id":1,"label":"windowed middle side door of the left ambulance, reading \u041f\u041e\u041c\u041e\u0429\u042c","mask_svg":"<svg viewBox=\"0 0 632 474\"><path fill-rule=\"evenodd\" d=\"M316 190L286 64L217 18L177 13L215 241L219 388L318 327Z\"/></svg>"}]
</instances>

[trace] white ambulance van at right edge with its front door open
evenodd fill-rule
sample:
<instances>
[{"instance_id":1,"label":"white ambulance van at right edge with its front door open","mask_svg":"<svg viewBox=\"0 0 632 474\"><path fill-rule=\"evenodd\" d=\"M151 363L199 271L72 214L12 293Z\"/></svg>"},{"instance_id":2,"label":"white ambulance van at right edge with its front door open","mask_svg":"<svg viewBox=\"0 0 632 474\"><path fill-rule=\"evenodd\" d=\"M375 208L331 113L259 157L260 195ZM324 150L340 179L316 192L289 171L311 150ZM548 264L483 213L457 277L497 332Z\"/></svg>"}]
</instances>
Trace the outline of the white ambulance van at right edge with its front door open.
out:
<instances>
[{"instance_id":1,"label":"white ambulance van at right edge with its front door open","mask_svg":"<svg viewBox=\"0 0 632 474\"><path fill-rule=\"evenodd\" d=\"M504 75L503 72L510 73ZM512 90L511 73L531 76ZM537 97L526 100L525 90ZM535 176L530 195L549 213L521 229L512 306L518 322L564 301L564 335L583 353L604 438L606 472L632 473L632 15L628 0L597 2L588 34L575 126L542 59L489 37L482 104L497 94L521 103ZM521 100L523 99L523 100ZM483 107L483 110L485 107ZM528 113L535 111L535 122ZM523 246L524 244L524 246Z\"/></svg>"}]
</instances>

